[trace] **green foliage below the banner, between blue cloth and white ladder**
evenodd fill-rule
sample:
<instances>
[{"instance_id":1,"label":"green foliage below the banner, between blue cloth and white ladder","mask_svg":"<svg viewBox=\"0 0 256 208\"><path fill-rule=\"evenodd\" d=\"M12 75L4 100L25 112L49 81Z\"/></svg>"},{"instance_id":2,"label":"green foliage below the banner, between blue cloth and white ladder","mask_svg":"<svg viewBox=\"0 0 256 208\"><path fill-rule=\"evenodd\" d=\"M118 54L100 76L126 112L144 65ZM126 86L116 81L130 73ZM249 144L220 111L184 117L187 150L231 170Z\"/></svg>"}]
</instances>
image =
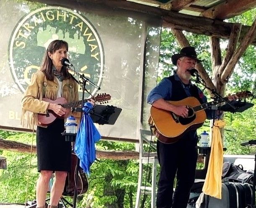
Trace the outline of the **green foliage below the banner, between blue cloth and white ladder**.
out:
<instances>
[{"instance_id":1,"label":"green foliage below the banner, between blue cloth and white ladder","mask_svg":"<svg viewBox=\"0 0 256 208\"><path fill-rule=\"evenodd\" d=\"M134 150L134 144L100 141L97 144L97 149ZM115 204L118 201L118 195L116 195L117 191L125 190L124 207L128 208L130 200L135 202L137 180L138 161L118 161L109 159L96 161L91 166L89 190L81 201L81 206L88 205L86 204L86 200L90 195L93 195L91 207L105 207L106 204ZM107 184L106 181L108 181L109 184ZM112 190L112 195L110 192L108 192L107 195L104 193L106 186L108 190ZM129 195L130 192L133 193L132 196Z\"/></svg>"}]
</instances>

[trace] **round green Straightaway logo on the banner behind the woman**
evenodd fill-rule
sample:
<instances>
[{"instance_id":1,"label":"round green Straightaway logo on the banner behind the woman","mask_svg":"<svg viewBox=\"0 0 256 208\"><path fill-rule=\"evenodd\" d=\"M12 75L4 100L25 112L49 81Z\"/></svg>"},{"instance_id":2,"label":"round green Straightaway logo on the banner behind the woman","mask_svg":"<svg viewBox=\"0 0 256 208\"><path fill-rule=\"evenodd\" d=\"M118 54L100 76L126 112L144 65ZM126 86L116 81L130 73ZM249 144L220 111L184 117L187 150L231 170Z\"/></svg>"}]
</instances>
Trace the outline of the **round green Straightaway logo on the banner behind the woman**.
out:
<instances>
[{"instance_id":1,"label":"round green Straightaway logo on the banner behind the woman","mask_svg":"<svg viewBox=\"0 0 256 208\"><path fill-rule=\"evenodd\" d=\"M51 6L37 9L22 18L10 39L10 69L20 90L26 90L32 73L39 70L45 50L55 39L68 42L68 59L76 71L100 86L104 51L94 26L80 13ZM78 75L74 76L78 79ZM89 83L86 89L91 94L97 91Z\"/></svg>"}]
</instances>

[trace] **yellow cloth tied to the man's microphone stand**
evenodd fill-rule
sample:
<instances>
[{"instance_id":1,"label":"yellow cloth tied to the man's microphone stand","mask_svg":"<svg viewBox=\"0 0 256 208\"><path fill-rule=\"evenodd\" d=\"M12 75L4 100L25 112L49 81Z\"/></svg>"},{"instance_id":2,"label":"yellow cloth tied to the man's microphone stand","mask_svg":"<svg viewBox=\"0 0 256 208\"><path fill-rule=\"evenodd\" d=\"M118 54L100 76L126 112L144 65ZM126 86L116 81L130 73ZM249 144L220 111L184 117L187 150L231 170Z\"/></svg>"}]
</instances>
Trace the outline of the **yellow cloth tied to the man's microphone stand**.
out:
<instances>
[{"instance_id":1,"label":"yellow cloth tied to the man's microphone stand","mask_svg":"<svg viewBox=\"0 0 256 208\"><path fill-rule=\"evenodd\" d=\"M214 122L209 166L203 186L204 194L218 199L221 199L221 175L223 165L223 146L219 128L224 127L225 124L226 123L222 120Z\"/></svg>"}]
</instances>

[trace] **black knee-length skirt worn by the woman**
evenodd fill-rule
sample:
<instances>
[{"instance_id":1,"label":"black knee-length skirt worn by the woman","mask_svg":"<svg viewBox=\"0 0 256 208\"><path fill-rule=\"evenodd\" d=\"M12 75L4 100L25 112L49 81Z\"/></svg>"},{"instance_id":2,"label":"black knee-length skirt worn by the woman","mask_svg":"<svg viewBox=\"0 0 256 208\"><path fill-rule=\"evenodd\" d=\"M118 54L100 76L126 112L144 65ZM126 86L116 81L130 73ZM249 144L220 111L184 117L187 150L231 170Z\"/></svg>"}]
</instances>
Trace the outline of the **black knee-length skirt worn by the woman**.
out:
<instances>
[{"instance_id":1,"label":"black knee-length skirt worn by the woman","mask_svg":"<svg viewBox=\"0 0 256 208\"><path fill-rule=\"evenodd\" d=\"M37 169L71 171L71 142L61 135L64 120L56 119L47 128L37 127Z\"/></svg>"}]
</instances>

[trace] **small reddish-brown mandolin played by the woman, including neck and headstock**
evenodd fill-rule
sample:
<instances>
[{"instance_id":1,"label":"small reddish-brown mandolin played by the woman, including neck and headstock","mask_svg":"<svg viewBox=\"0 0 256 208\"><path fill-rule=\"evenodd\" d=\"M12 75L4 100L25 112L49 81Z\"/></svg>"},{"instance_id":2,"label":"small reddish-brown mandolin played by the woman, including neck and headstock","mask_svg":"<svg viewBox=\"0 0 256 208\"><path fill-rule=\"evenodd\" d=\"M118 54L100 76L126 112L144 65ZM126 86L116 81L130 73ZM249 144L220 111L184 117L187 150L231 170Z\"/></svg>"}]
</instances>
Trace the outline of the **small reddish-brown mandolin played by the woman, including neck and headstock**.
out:
<instances>
[{"instance_id":1,"label":"small reddish-brown mandolin played by the woman, including neck and headstock","mask_svg":"<svg viewBox=\"0 0 256 208\"><path fill-rule=\"evenodd\" d=\"M97 102L104 102L111 99L110 94L98 94L96 97L92 97L90 99L94 99ZM65 98L59 97L56 100L50 100L47 98L43 98L43 101L49 102L49 103L55 103L61 105L63 108L68 109L71 107L77 107L82 104L82 100L79 101L71 101L68 102ZM89 99L85 99L84 102L86 102ZM52 123L57 117L59 117L55 112L52 110L48 110L47 114L38 114L37 119L40 124L43 125L49 125Z\"/></svg>"}]
</instances>

